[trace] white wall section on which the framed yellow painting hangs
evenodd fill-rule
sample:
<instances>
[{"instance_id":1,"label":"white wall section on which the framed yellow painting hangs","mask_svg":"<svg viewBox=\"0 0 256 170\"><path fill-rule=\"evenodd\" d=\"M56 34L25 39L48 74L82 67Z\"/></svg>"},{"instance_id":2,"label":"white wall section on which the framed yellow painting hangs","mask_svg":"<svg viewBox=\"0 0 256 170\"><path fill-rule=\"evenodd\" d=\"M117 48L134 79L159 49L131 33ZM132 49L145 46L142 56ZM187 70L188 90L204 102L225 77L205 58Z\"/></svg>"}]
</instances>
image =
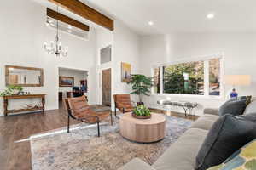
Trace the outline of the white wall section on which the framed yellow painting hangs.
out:
<instances>
[{"instance_id":1,"label":"white wall section on which the framed yellow painting hangs","mask_svg":"<svg viewBox=\"0 0 256 170\"><path fill-rule=\"evenodd\" d=\"M139 74L139 61L140 37L122 23L115 22L113 32L113 94L131 93L131 87L125 82L121 82L121 62L131 64L131 74Z\"/></svg>"}]
</instances>

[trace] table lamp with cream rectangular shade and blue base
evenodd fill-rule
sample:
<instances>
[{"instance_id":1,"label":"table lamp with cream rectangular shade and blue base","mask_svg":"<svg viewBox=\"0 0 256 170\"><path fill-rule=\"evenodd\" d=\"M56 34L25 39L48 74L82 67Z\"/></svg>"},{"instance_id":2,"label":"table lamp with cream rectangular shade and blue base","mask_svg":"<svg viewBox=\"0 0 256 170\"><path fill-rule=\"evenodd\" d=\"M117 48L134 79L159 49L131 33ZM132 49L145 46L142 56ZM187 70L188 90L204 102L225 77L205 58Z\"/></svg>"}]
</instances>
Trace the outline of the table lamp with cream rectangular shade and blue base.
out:
<instances>
[{"instance_id":1,"label":"table lamp with cream rectangular shade and blue base","mask_svg":"<svg viewBox=\"0 0 256 170\"><path fill-rule=\"evenodd\" d=\"M250 75L226 75L225 84L231 85L232 91L230 92L230 98L238 96L236 92L236 87L238 86L250 86L251 85L251 76Z\"/></svg>"}]
</instances>

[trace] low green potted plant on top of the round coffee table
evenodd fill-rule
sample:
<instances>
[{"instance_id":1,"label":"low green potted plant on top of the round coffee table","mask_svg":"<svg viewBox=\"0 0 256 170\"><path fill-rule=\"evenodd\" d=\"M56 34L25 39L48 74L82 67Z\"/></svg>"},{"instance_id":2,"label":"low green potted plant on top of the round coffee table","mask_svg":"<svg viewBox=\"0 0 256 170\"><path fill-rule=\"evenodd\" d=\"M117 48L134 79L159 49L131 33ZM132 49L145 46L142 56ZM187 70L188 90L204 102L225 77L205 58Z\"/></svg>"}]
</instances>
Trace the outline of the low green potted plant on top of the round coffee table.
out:
<instances>
[{"instance_id":1,"label":"low green potted plant on top of the round coffee table","mask_svg":"<svg viewBox=\"0 0 256 170\"><path fill-rule=\"evenodd\" d=\"M145 105L137 105L132 111L132 116L137 119L150 119L151 111Z\"/></svg>"}]
</instances>

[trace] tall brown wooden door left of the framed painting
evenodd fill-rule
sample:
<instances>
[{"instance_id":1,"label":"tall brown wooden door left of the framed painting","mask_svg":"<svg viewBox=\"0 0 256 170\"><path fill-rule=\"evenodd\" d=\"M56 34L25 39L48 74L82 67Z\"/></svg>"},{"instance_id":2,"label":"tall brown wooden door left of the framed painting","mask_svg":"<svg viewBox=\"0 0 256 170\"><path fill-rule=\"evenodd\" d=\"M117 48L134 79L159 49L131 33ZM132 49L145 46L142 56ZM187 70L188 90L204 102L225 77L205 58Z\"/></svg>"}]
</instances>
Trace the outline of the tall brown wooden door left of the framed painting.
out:
<instances>
[{"instance_id":1,"label":"tall brown wooden door left of the framed painting","mask_svg":"<svg viewBox=\"0 0 256 170\"><path fill-rule=\"evenodd\" d=\"M111 106L111 69L102 71L102 105Z\"/></svg>"}]
</instances>

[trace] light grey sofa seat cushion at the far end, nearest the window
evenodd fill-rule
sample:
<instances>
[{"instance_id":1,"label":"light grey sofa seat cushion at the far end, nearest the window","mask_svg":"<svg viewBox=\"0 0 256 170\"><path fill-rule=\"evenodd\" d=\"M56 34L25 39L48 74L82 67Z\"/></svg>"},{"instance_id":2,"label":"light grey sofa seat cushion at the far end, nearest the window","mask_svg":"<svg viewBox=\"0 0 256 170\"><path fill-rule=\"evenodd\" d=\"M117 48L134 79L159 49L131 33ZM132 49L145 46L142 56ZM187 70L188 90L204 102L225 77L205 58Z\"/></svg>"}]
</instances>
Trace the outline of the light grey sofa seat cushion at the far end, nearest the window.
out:
<instances>
[{"instance_id":1,"label":"light grey sofa seat cushion at the far end, nearest the window","mask_svg":"<svg viewBox=\"0 0 256 170\"><path fill-rule=\"evenodd\" d=\"M204 130L210 130L214 122L218 120L219 116L215 115L203 115L199 117L191 126L191 128L201 128Z\"/></svg>"}]
</instances>

